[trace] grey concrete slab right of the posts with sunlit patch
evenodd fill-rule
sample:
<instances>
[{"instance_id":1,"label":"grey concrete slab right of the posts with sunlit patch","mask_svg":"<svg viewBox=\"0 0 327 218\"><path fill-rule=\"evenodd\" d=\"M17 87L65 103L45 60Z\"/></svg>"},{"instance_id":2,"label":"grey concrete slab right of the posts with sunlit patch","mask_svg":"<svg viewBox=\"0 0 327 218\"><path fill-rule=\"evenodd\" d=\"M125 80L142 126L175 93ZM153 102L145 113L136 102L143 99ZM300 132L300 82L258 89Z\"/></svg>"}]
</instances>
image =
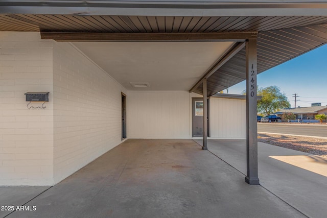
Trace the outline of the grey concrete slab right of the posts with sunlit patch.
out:
<instances>
[{"instance_id":1,"label":"grey concrete slab right of the posts with sunlit patch","mask_svg":"<svg viewBox=\"0 0 327 218\"><path fill-rule=\"evenodd\" d=\"M207 146L246 174L245 140L208 140ZM327 217L327 158L259 142L258 169L260 184L274 195L308 217Z\"/></svg>"}]
</instances>

